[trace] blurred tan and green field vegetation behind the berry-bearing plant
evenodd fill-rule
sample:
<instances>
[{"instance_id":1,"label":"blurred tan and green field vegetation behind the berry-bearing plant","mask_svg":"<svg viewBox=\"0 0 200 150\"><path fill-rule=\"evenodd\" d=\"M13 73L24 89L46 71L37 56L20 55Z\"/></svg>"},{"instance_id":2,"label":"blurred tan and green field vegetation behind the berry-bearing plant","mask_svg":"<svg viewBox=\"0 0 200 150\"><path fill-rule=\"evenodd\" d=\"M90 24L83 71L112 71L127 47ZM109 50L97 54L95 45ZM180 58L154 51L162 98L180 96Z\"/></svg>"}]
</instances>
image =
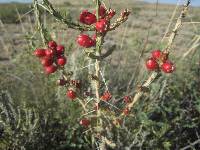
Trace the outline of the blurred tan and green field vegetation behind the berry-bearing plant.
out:
<instances>
[{"instance_id":1,"label":"blurred tan and green field vegetation behind the berry-bearing plant","mask_svg":"<svg viewBox=\"0 0 200 150\"><path fill-rule=\"evenodd\" d=\"M108 34L105 49L116 45L112 57L103 62L103 74L109 89L121 107L122 96L134 94L137 85L148 75L144 62L152 49L164 48L162 40L179 15L170 20L174 5L148 4L132 0L107 3L120 14L129 8L132 14L126 24ZM56 3L73 19L83 9L93 9L92 1ZM75 44L76 31L60 25L46 12L43 23L51 36L67 47L68 70L77 70L87 89L88 63ZM126 117L108 137L122 150L200 149L200 17L199 8L191 7L173 46L171 59L176 72L163 75L134 108L134 117ZM42 46L36 32L30 4L0 4L0 149L92 149L86 130L78 124L78 104L67 100L65 90L56 86L59 73L45 76L32 55ZM114 72L114 73L113 73Z\"/></svg>"}]
</instances>

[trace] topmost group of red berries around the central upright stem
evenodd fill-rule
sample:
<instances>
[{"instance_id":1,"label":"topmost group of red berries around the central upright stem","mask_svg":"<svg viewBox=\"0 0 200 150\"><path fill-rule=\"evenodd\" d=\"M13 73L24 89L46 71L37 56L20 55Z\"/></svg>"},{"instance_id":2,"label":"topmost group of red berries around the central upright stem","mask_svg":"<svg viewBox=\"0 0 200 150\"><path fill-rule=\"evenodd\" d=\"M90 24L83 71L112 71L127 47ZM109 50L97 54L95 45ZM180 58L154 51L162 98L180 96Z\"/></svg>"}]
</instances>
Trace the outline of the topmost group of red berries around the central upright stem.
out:
<instances>
[{"instance_id":1,"label":"topmost group of red berries around the central upright stem","mask_svg":"<svg viewBox=\"0 0 200 150\"><path fill-rule=\"evenodd\" d=\"M88 10L84 10L80 14L79 21L86 25L94 25L96 31L103 34L107 32L110 24L110 19L112 19L114 15L115 10L106 10L106 8L101 5L99 8L99 20L97 20L96 11L91 13ZM85 48L95 46L96 34L94 34L92 37L87 34L80 34L77 38L77 43Z\"/></svg>"}]
</instances>

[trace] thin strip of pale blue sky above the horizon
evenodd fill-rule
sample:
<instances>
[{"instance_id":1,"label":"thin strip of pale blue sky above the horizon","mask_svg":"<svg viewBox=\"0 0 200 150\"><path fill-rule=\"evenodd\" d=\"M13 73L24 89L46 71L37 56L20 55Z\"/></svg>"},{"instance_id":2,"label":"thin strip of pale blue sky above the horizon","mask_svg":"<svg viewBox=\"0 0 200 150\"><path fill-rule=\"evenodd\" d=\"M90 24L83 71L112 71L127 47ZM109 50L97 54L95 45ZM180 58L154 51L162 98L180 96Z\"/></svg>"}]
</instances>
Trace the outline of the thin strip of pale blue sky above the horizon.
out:
<instances>
[{"instance_id":1,"label":"thin strip of pale blue sky above the horizon","mask_svg":"<svg viewBox=\"0 0 200 150\"><path fill-rule=\"evenodd\" d=\"M5 3L5 2L31 2L32 0L0 0L0 3ZM144 0L147 2L156 2L157 0ZM168 4L176 4L178 0L158 0L159 3L168 3ZM181 0L183 3L185 0ZM191 0L193 6L200 6L200 0Z\"/></svg>"}]
</instances>

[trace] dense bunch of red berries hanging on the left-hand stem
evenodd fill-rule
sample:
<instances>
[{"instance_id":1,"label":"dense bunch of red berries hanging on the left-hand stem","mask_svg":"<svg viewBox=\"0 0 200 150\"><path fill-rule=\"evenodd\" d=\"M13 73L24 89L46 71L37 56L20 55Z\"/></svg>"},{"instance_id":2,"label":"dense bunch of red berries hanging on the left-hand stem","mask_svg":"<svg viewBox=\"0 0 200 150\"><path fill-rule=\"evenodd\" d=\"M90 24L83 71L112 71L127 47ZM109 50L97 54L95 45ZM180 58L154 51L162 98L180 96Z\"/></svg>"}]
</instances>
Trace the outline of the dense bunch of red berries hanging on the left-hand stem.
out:
<instances>
[{"instance_id":1,"label":"dense bunch of red berries hanging on the left-hand stem","mask_svg":"<svg viewBox=\"0 0 200 150\"><path fill-rule=\"evenodd\" d=\"M51 74L66 64L67 59L64 56L64 51L63 45L57 45L55 41L50 41L47 49L38 48L34 51L34 55L40 58L45 73Z\"/></svg>"}]
</instances>

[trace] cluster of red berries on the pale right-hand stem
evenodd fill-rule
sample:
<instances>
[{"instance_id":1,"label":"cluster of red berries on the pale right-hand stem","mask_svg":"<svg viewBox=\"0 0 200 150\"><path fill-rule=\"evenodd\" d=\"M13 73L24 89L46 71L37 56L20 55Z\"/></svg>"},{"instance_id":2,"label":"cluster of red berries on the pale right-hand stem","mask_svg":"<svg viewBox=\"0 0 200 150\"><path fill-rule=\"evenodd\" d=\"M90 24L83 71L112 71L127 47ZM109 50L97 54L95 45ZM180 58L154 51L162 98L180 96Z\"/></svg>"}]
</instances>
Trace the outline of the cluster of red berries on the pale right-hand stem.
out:
<instances>
[{"instance_id":1,"label":"cluster of red berries on the pale right-hand stem","mask_svg":"<svg viewBox=\"0 0 200 150\"><path fill-rule=\"evenodd\" d=\"M168 60L168 54L160 50L154 50L151 57L146 61L146 67L150 71L161 69L164 73L172 73L175 70L174 64Z\"/></svg>"}]
</instances>

